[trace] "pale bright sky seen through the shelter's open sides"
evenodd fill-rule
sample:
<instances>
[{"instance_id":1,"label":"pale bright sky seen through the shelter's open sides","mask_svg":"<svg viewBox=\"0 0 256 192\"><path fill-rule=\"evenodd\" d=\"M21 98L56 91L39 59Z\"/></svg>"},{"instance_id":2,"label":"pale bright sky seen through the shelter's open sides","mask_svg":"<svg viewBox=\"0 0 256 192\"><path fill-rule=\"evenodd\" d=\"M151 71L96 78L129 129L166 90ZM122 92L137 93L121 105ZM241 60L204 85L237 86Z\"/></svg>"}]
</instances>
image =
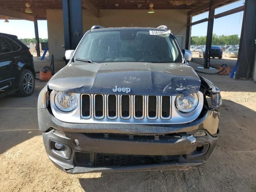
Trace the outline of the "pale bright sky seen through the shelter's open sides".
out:
<instances>
[{"instance_id":1,"label":"pale bright sky seen through the shelter's open sides","mask_svg":"<svg viewBox=\"0 0 256 192\"><path fill-rule=\"evenodd\" d=\"M215 14L237 8L242 6L244 0L222 6L215 10ZM208 12L194 16L192 22L208 18ZM238 12L229 16L214 19L213 33L217 35L233 35L238 34L240 37L241 27L243 20L243 12ZM38 20L39 37L44 39L48 38L47 33L47 21ZM0 20L0 32L8 33L18 36L18 38L34 38L34 22L26 20L9 20L9 23L5 23L4 20ZM207 22L192 26L191 36L206 36Z\"/></svg>"}]
</instances>

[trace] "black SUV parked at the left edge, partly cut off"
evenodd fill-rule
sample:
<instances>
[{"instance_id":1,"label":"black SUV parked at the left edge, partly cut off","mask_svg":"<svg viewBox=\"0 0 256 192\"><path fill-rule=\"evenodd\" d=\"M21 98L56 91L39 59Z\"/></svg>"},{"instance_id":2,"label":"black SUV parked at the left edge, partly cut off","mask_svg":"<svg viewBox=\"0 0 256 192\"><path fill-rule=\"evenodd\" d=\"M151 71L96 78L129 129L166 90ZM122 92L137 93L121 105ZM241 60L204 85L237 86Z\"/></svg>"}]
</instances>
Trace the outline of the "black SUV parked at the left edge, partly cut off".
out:
<instances>
[{"instance_id":1,"label":"black SUV parked at the left edge, partly cut off","mask_svg":"<svg viewBox=\"0 0 256 192\"><path fill-rule=\"evenodd\" d=\"M0 98L18 91L30 96L35 87L33 56L17 36L0 33Z\"/></svg>"}]
</instances>

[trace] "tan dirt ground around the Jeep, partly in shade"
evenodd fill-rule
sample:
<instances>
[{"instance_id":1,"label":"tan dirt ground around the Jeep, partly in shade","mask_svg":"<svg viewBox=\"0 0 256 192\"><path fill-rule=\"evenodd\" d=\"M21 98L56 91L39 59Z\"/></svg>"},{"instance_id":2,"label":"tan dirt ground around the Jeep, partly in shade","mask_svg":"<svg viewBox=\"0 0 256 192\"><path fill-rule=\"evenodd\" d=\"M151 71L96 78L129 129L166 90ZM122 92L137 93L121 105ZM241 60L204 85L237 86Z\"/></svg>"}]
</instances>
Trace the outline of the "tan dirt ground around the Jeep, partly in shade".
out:
<instances>
[{"instance_id":1,"label":"tan dirt ground around the Jeep, partly in shade","mask_svg":"<svg viewBox=\"0 0 256 192\"><path fill-rule=\"evenodd\" d=\"M1 192L255 192L256 83L202 75L222 90L220 135L210 159L188 171L66 174L46 156L32 96L0 99Z\"/></svg>"}]
</instances>

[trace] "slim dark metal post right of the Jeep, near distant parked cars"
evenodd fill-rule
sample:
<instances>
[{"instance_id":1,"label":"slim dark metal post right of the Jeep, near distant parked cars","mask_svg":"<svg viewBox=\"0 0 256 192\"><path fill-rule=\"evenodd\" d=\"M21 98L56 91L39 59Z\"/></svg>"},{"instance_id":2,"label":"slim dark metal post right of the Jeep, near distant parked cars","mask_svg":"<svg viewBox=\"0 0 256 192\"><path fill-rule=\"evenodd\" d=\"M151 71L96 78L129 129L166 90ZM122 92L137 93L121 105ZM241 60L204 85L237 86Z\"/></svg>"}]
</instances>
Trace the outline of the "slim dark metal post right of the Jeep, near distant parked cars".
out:
<instances>
[{"instance_id":1,"label":"slim dark metal post right of the Jeep, near distant parked cars","mask_svg":"<svg viewBox=\"0 0 256 192\"><path fill-rule=\"evenodd\" d=\"M210 7L209 7L206 46L205 46L205 53L204 53L205 69L208 69L210 67L210 51L212 47L212 30L213 30L213 22L214 22L214 12L215 12L215 7L212 6L212 1L211 1Z\"/></svg>"}]
</instances>

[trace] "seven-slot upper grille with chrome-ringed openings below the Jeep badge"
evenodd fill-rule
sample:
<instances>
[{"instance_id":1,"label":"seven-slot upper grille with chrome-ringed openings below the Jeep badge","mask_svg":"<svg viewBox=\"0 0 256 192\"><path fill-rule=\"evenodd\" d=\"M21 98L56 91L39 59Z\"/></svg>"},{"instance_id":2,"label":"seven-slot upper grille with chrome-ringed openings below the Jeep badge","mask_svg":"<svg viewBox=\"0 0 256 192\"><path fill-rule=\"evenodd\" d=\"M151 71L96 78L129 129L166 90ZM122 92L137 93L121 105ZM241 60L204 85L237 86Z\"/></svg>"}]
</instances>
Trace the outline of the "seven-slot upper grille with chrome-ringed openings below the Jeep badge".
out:
<instances>
[{"instance_id":1,"label":"seven-slot upper grille with chrome-ringed openings below the Jeep badge","mask_svg":"<svg viewBox=\"0 0 256 192\"><path fill-rule=\"evenodd\" d=\"M153 122L171 118L172 96L82 94L81 100L81 116L85 119Z\"/></svg>"}]
</instances>

